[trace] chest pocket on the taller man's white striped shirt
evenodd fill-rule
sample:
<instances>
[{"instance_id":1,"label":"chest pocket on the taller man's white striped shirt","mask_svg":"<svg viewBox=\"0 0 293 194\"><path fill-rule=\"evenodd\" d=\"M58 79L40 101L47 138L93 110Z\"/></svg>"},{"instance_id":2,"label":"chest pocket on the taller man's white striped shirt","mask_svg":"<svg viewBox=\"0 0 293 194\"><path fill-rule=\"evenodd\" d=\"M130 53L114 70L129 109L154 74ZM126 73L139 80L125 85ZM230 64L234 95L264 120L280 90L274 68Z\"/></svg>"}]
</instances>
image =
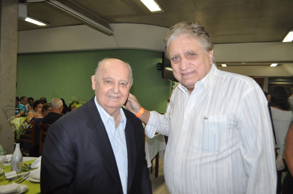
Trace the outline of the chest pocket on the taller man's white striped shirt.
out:
<instances>
[{"instance_id":1,"label":"chest pocket on the taller man's white striped shirt","mask_svg":"<svg viewBox=\"0 0 293 194\"><path fill-rule=\"evenodd\" d=\"M198 149L218 152L225 148L228 115L200 115L195 145Z\"/></svg>"}]
</instances>

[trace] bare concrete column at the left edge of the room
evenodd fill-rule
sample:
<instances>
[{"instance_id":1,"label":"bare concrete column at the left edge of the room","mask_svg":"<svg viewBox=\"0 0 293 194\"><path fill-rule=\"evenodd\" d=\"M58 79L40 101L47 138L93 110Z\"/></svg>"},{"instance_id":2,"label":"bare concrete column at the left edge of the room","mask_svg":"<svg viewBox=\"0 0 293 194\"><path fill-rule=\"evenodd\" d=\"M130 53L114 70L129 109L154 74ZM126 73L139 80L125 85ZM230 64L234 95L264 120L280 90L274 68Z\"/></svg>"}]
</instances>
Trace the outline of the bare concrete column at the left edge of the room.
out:
<instances>
[{"instance_id":1,"label":"bare concrete column at the left edge of the room","mask_svg":"<svg viewBox=\"0 0 293 194\"><path fill-rule=\"evenodd\" d=\"M15 115L18 0L0 0L0 11L0 144L12 154L14 133L6 115Z\"/></svg>"}]
</instances>

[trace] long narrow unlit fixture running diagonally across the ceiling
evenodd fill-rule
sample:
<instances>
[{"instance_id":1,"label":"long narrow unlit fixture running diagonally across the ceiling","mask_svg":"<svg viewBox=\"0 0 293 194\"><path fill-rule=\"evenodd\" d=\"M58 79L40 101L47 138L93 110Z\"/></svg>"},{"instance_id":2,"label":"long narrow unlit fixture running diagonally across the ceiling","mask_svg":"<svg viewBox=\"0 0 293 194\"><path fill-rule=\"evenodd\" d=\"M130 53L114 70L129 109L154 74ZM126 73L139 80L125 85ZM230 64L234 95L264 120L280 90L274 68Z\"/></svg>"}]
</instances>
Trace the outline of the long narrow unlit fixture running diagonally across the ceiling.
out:
<instances>
[{"instance_id":1,"label":"long narrow unlit fixture running diagonally across the ceiling","mask_svg":"<svg viewBox=\"0 0 293 194\"><path fill-rule=\"evenodd\" d=\"M49 3L49 4L51 4L51 5L53 5L53 6L57 7L57 8L65 11L65 12L75 16L76 18L79 18L80 20L83 20L83 21L93 25L94 27L99 28L100 30L103 30L104 32L107 32L107 34L113 35L113 33L114 33L113 30L111 30L111 29L99 24L98 22L95 22L94 20L91 20L90 18L88 18L88 17L82 15L81 13L79 13L79 12L77 12L77 11L75 11L75 10L65 6L65 5L63 5L62 3L58 2L58 1L50 0L50 1L47 1L47 3Z\"/></svg>"}]
</instances>

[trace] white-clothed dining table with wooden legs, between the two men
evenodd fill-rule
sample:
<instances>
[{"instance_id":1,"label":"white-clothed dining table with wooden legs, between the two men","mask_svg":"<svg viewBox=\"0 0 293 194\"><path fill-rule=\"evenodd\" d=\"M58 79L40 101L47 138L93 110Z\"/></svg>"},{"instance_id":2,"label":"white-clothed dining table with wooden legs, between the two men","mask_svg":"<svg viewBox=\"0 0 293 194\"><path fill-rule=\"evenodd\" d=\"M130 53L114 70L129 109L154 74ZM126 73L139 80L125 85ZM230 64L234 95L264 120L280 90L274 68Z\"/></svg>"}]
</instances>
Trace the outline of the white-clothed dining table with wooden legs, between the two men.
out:
<instances>
[{"instance_id":1,"label":"white-clothed dining table with wooden legs, between the two men","mask_svg":"<svg viewBox=\"0 0 293 194\"><path fill-rule=\"evenodd\" d=\"M152 160L156 157L155 177L158 177L159 173L159 159L161 160L166 150L165 136L162 134L156 134L153 138L146 136L145 140L145 153L147 160L147 167L152 167ZM152 168L151 168L152 173Z\"/></svg>"}]
</instances>

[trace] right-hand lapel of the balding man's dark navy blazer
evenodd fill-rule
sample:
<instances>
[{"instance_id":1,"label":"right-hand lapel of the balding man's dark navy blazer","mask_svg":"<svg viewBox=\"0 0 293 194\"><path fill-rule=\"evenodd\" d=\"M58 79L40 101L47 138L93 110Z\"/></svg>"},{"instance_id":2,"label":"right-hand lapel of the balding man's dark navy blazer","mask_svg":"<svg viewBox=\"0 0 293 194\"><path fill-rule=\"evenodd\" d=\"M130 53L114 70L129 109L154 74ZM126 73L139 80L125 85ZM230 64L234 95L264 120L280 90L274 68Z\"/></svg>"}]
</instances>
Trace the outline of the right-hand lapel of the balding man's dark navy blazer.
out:
<instances>
[{"instance_id":1,"label":"right-hand lapel of the balding man's dark navy blazer","mask_svg":"<svg viewBox=\"0 0 293 194\"><path fill-rule=\"evenodd\" d=\"M126 138L127 158L128 158L128 178L127 178L127 193L128 193L132 184L134 169L136 164L136 144L135 144L134 128L131 122L129 121L129 119L126 120L125 138Z\"/></svg>"}]
</instances>

